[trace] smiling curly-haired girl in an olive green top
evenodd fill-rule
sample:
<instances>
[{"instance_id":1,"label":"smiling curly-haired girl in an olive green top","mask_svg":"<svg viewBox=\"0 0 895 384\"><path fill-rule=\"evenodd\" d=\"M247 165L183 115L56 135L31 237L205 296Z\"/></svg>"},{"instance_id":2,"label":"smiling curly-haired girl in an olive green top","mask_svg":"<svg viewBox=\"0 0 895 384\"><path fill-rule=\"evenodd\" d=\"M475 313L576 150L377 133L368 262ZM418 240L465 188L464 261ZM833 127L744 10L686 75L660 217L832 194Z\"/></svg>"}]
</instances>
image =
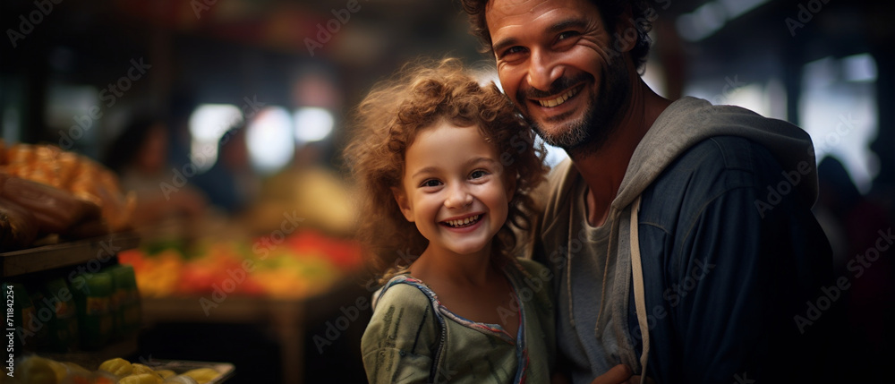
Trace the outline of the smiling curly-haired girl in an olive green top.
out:
<instances>
[{"instance_id":1,"label":"smiling curly-haired girl in an olive green top","mask_svg":"<svg viewBox=\"0 0 895 384\"><path fill-rule=\"evenodd\" d=\"M549 382L550 272L517 246L548 172L533 132L452 58L405 65L356 114L345 155L381 277L370 382Z\"/></svg>"}]
</instances>

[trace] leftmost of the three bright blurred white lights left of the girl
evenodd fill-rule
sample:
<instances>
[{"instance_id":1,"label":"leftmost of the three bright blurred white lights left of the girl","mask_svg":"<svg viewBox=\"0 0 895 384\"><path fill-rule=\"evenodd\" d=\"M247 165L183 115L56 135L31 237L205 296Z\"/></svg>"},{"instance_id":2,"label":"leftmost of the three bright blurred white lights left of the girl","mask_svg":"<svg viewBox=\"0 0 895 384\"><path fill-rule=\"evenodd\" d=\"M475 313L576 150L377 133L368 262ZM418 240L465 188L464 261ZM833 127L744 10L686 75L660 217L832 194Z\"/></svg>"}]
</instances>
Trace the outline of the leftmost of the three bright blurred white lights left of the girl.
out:
<instances>
[{"instance_id":1,"label":"leftmost of the three bright blurred white lights left of the girl","mask_svg":"<svg viewBox=\"0 0 895 384\"><path fill-rule=\"evenodd\" d=\"M190 154L198 173L217 161L217 141L224 132L243 120L239 108L230 104L202 104L190 115Z\"/></svg>"}]
</instances>

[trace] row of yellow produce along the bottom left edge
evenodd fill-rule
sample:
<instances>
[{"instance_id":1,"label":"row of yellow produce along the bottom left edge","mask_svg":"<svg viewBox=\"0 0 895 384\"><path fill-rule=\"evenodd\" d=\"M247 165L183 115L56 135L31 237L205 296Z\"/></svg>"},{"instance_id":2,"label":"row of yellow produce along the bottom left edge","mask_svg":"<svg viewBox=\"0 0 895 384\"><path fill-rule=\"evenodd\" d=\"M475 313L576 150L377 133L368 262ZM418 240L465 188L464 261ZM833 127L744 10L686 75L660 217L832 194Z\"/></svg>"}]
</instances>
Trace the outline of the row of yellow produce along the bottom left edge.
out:
<instances>
[{"instance_id":1,"label":"row of yellow produce along the bottom left edge","mask_svg":"<svg viewBox=\"0 0 895 384\"><path fill-rule=\"evenodd\" d=\"M147 365L147 364L151 364ZM233 371L229 364L192 362L132 363L115 357L88 369L77 363L56 361L37 354L16 362L13 377L2 384L215 384Z\"/></svg>"}]
</instances>

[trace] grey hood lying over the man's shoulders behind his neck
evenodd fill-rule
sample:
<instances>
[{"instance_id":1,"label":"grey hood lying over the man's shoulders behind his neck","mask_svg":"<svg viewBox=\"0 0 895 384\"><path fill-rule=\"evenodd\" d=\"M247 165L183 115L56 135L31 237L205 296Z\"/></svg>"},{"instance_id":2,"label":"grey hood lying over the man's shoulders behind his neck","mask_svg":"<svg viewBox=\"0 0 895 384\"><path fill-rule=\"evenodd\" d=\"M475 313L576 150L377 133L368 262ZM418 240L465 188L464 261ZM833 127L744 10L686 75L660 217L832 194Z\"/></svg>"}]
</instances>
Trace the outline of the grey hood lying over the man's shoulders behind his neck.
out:
<instances>
[{"instance_id":1,"label":"grey hood lying over the man's shoulders behind his neck","mask_svg":"<svg viewBox=\"0 0 895 384\"><path fill-rule=\"evenodd\" d=\"M620 211L630 205L686 149L715 136L757 142L771 151L785 171L809 169L794 189L812 205L817 200L814 145L807 132L742 107L712 106L702 98L685 97L659 115L635 149L612 209Z\"/></svg>"}]
</instances>

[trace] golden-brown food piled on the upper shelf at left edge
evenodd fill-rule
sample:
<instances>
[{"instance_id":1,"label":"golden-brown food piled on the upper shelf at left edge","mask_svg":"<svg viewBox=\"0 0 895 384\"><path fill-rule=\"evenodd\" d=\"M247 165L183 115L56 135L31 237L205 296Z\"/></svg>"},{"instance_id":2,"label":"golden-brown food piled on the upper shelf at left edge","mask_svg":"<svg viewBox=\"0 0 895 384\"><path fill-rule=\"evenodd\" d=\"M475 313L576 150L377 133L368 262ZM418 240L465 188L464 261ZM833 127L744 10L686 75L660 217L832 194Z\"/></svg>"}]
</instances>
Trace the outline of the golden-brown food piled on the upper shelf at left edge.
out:
<instances>
[{"instance_id":1,"label":"golden-brown food piled on the upper shelf at left edge","mask_svg":"<svg viewBox=\"0 0 895 384\"><path fill-rule=\"evenodd\" d=\"M0 141L0 252L131 227L136 194L107 167L53 145Z\"/></svg>"}]
</instances>

